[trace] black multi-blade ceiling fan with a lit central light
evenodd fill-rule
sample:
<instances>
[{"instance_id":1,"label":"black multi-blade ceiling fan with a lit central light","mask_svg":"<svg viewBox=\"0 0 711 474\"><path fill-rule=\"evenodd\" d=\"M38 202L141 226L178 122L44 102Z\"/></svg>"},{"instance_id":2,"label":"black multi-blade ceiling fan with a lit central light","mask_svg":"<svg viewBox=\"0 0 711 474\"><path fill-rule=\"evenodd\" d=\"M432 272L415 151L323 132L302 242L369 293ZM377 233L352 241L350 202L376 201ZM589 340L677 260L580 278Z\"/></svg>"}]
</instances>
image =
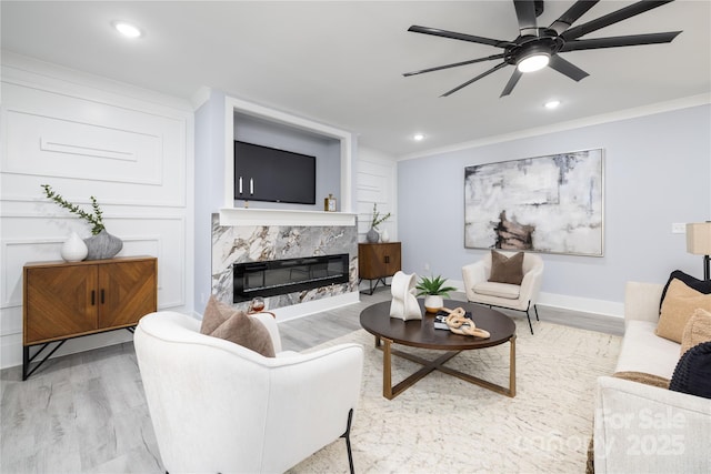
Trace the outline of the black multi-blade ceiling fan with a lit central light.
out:
<instances>
[{"instance_id":1,"label":"black multi-blade ceiling fan with a lit central light","mask_svg":"<svg viewBox=\"0 0 711 474\"><path fill-rule=\"evenodd\" d=\"M494 65L475 78L444 92L441 97L448 97L458 90L465 88L472 82L491 74L507 65L515 65L511 79L503 88L500 97L509 95L515 84L525 72L537 71L547 65L569 77L574 81L588 77L589 74L570 61L560 57L561 52L580 51L587 49L619 48L639 44L658 44L671 42L681 31L667 33L631 34L624 37L609 37L594 39L579 39L588 33L597 31L610 24L627 20L628 18L661 7L673 0L661 1L639 1L620 10L608 13L587 23L572 27L572 24L590 10L599 0L579 0L573 3L558 20L548 28L537 26L537 17L543 12L543 0L513 0L515 16L519 20L519 37L512 41L502 41L491 38L475 37L472 34L457 33L453 31L440 30L437 28L412 26L408 31L434 37L450 38L453 40L470 41L480 44L489 44L503 49L499 54L485 58L472 59L469 61L455 62L452 64L438 65L435 68L422 69L421 71L405 72L403 75L417 75L424 72L440 71L442 69L457 68L459 65L473 64L475 62L493 61L502 59L503 62ZM571 28L572 27L572 28Z\"/></svg>"}]
</instances>

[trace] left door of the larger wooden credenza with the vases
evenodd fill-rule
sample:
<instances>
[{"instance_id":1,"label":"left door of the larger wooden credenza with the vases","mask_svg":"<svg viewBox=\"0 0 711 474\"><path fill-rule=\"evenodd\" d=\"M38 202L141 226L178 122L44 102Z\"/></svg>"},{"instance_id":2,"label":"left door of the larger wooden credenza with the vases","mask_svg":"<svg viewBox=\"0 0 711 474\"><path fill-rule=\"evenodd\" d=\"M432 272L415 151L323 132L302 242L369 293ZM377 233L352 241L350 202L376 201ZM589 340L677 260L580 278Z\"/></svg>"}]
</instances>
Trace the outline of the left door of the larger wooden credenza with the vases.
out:
<instances>
[{"instance_id":1,"label":"left door of the larger wooden credenza with the vases","mask_svg":"<svg viewBox=\"0 0 711 474\"><path fill-rule=\"evenodd\" d=\"M97 329L96 266L26 269L24 282L26 345Z\"/></svg>"}]
</instances>

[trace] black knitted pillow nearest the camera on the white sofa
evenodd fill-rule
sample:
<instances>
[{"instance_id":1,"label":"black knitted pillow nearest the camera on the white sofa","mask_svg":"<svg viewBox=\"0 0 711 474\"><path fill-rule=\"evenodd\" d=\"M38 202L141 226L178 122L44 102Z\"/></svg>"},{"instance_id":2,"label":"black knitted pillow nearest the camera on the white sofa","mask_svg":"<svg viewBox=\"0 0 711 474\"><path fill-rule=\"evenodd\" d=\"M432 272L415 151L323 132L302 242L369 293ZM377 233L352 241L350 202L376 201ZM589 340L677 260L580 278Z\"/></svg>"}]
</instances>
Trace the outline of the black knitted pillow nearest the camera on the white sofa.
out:
<instances>
[{"instance_id":1,"label":"black knitted pillow nearest the camera on the white sofa","mask_svg":"<svg viewBox=\"0 0 711 474\"><path fill-rule=\"evenodd\" d=\"M711 399L711 341L691 347L681 356L669 390Z\"/></svg>"}]
</instances>

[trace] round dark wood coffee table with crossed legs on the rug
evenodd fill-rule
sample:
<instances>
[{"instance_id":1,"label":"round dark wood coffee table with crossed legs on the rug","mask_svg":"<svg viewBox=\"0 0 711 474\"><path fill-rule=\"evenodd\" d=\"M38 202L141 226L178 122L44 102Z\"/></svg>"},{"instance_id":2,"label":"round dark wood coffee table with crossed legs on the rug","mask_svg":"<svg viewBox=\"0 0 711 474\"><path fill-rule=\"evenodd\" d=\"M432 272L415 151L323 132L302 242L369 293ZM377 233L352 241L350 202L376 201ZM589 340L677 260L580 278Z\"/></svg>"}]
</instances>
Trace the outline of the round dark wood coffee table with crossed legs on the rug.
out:
<instances>
[{"instance_id":1,"label":"round dark wood coffee table with crossed legs on the rug","mask_svg":"<svg viewBox=\"0 0 711 474\"><path fill-rule=\"evenodd\" d=\"M422 320L402 321L390 317L390 302L373 304L360 313L360 324L365 331L375 336L375 347L381 349L382 355L382 396L392 400L407 389L411 387L420 379L432 371L444 372L463 381L483 386L497 393L515 396L515 323L505 314L478 304L461 301L445 300L444 307L463 307L471 311L477 327L491 333L491 337L481 339L470 335L454 334L447 330L434 329L434 314L425 313L423 301L419 300L422 309ZM473 375L465 374L454 369L445 367L444 363L462 351L473 349L492 347L494 345L511 343L509 354L509 387L503 387ZM382 345L381 345L382 343ZM392 349L392 344L409 345L432 350L449 351L433 361L428 361L418 355ZM404 357L423 365L414 374L392 386L392 355Z\"/></svg>"}]
</instances>

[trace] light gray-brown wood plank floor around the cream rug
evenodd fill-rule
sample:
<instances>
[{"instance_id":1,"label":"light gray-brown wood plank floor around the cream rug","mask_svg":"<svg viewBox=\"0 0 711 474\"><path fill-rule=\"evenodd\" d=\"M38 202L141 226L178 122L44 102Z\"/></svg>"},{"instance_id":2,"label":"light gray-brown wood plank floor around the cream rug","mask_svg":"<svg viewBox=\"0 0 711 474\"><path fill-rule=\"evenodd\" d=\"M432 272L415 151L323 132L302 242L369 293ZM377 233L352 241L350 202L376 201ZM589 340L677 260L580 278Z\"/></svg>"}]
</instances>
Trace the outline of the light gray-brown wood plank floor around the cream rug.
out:
<instances>
[{"instance_id":1,"label":"light gray-brown wood plank floor around the cream rug","mask_svg":"<svg viewBox=\"0 0 711 474\"><path fill-rule=\"evenodd\" d=\"M301 351L356 331L364 307L389 299L390 289L381 288L359 304L283 322L283 349ZM550 307L539 307L539 315L592 331L623 331L614 317ZM3 474L164 472L132 343L54 359L26 382L21 367L6 369L0 397Z\"/></svg>"}]
</instances>

